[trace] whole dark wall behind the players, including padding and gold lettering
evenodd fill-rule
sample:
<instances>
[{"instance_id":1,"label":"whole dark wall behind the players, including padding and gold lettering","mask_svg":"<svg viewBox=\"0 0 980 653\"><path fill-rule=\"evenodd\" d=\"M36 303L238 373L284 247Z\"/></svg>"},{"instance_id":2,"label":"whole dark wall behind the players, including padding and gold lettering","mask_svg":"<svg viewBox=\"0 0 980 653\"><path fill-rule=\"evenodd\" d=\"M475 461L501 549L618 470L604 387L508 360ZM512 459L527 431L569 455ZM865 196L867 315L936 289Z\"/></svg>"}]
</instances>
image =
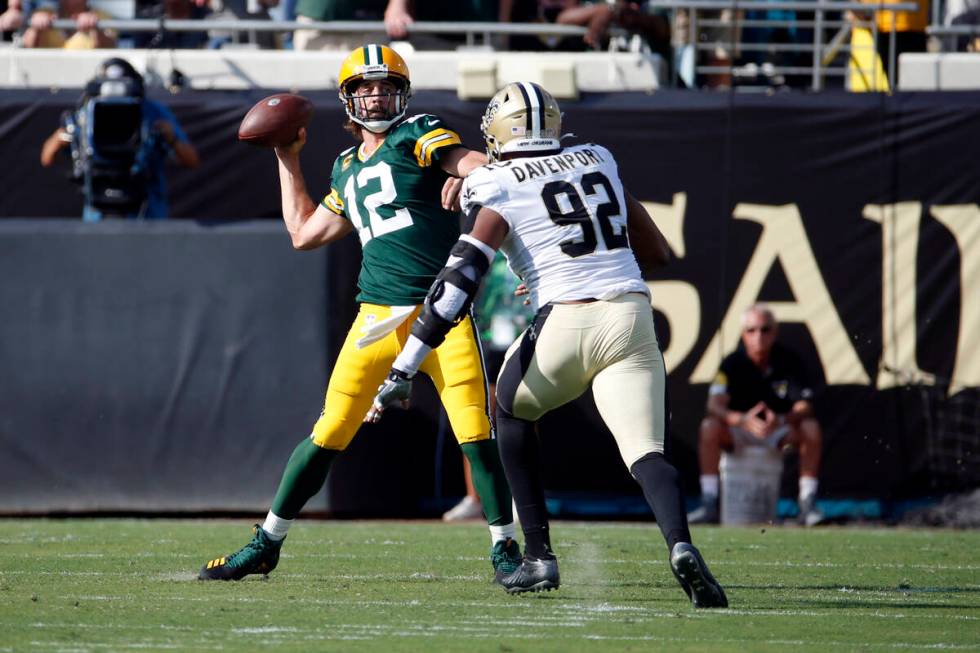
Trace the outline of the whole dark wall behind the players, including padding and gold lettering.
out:
<instances>
[{"instance_id":1,"label":"whole dark wall behind the players, including padding and gold lettering","mask_svg":"<svg viewBox=\"0 0 980 653\"><path fill-rule=\"evenodd\" d=\"M69 219L67 165L38 163L79 91L0 95L0 513L267 509L322 406L359 261L353 237L294 251L273 155L236 142L273 92L161 96L201 152L169 175L188 219L94 225ZM336 94L308 96L319 199L352 141ZM410 113L478 147L483 108L422 92ZM980 485L980 93L658 92L563 109L674 251L649 282L690 493L708 384L757 299L817 387L822 496ZM309 509L431 515L462 494L431 388L417 394L361 432ZM588 397L541 437L556 495L639 494Z\"/></svg>"}]
</instances>

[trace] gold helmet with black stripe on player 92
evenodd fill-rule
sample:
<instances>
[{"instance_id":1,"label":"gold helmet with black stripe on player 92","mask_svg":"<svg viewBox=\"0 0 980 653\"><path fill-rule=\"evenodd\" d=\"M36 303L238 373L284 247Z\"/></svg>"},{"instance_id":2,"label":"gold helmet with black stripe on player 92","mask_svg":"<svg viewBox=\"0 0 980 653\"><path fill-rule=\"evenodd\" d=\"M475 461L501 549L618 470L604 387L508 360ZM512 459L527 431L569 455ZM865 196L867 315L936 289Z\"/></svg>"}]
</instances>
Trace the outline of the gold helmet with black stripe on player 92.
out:
<instances>
[{"instance_id":1,"label":"gold helmet with black stripe on player 92","mask_svg":"<svg viewBox=\"0 0 980 653\"><path fill-rule=\"evenodd\" d=\"M490 100L480 123L487 156L561 147L561 109L551 93L531 82L511 82Z\"/></svg>"}]
</instances>

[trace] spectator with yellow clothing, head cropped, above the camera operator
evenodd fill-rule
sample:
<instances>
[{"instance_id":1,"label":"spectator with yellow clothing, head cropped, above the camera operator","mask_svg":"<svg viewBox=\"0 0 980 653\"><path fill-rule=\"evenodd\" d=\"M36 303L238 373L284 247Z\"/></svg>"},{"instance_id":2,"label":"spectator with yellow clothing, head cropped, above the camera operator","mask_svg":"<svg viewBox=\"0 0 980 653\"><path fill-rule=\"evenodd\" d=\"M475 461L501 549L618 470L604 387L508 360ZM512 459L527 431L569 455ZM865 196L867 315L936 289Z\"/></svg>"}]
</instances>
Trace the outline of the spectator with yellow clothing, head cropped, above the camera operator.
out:
<instances>
[{"instance_id":1,"label":"spectator with yellow clothing, head cropped, above the camera operator","mask_svg":"<svg viewBox=\"0 0 980 653\"><path fill-rule=\"evenodd\" d=\"M51 27L56 18L75 21L75 31L66 34ZM30 17L24 32L25 48L65 48L67 50L91 50L116 47L116 33L99 29L99 20L111 18L104 11L92 10L87 0L59 0L57 7L42 6Z\"/></svg>"}]
</instances>

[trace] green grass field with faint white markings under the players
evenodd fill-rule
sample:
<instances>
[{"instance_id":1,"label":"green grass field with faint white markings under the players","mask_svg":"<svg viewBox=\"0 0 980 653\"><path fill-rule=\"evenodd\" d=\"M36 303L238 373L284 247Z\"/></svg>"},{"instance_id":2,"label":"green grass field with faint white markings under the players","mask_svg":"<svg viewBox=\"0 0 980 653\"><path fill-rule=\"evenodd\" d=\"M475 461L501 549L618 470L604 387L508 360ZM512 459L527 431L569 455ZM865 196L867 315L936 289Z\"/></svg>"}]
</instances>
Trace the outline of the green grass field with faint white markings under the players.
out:
<instances>
[{"instance_id":1,"label":"green grass field with faint white markings under the players","mask_svg":"<svg viewBox=\"0 0 980 653\"><path fill-rule=\"evenodd\" d=\"M557 592L492 585L479 524L300 522L268 580L202 583L241 521L0 520L0 651L980 651L980 532L700 528L695 611L653 524L553 524Z\"/></svg>"}]
</instances>

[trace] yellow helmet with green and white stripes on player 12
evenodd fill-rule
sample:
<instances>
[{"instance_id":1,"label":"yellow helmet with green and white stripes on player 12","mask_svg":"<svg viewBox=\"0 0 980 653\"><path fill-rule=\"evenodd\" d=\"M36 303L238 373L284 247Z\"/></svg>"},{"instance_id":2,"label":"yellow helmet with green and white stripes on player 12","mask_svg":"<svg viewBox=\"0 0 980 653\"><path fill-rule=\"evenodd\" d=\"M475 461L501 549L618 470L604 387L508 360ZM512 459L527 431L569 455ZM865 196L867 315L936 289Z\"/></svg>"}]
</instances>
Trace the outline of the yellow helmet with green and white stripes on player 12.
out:
<instances>
[{"instance_id":1,"label":"yellow helmet with green and white stripes on player 12","mask_svg":"<svg viewBox=\"0 0 980 653\"><path fill-rule=\"evenodd\" d=\"M387 79L398 89L395 92L394 109L381 120L369 120L363 106L358 107L354 98L354 91L358 84L374 79ZM347 55L344 62L340 64L337 85L340 87L340 101L344 103L350 119L375 133L387 130L405 115L408 98L412 95L408 65L401 55L386 45L365 45Z\"/></svg>"}]
</instances>

